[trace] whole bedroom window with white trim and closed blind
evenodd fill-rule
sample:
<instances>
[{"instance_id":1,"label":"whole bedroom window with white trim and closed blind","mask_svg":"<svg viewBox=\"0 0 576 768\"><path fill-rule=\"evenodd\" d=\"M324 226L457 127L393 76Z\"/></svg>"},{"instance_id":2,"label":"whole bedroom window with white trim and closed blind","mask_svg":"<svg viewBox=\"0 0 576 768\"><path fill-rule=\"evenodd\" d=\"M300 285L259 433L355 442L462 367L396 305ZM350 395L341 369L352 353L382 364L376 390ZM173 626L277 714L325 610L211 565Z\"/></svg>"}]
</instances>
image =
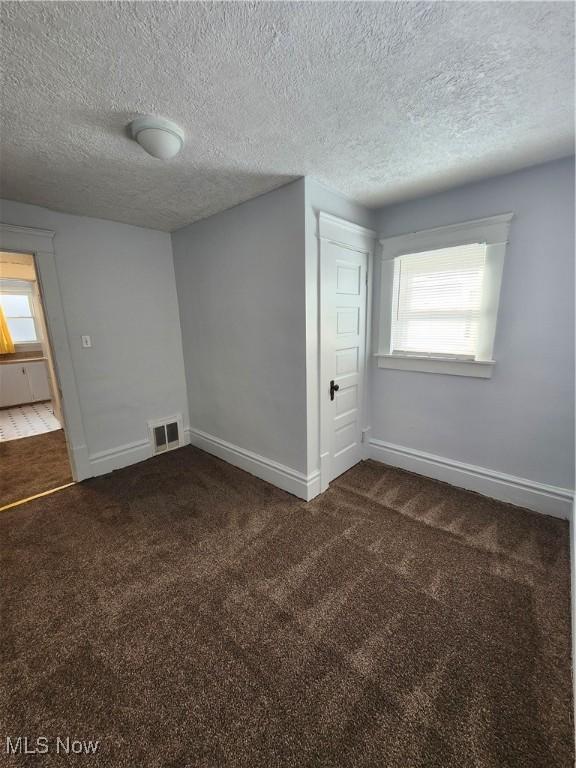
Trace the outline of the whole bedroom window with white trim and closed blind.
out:
<instances>
[{"instance_id":1,"label":"whole bedroom window with white trim and closed blind","mask_svg":"<svg viewBox=\"0 0 576 768\"><path fill-rule=\"evenodd\" d=\"M381 368L492 375L511 214L381 240Z\"/></svg>"}]
</instances>

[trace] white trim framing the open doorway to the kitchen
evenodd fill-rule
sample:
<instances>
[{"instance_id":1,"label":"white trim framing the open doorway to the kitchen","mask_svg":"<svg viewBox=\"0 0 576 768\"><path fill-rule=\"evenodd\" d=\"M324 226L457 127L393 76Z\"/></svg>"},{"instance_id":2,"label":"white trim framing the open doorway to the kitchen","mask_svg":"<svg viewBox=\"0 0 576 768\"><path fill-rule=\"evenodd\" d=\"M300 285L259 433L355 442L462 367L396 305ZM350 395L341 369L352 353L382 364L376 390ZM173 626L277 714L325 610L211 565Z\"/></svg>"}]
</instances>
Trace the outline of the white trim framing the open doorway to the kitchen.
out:
<instances>
[{"instance_id":1,"label":"white trim framing the open doorway to the kitchen","mask_svg":"<svg viewBox=\"0 0 576 768\"><path fill-rule=\"evenodd\" d=\"M48 343L52 351L56 380L60 390L70 468L73 479L78 481L90 477L90 469L78 384L72 364L70 340L56 269L53 242L55 234L50 229L21 227L17 224L0 222L0 250L29 253L34 258Z\"/></svg>"}]
</instances>

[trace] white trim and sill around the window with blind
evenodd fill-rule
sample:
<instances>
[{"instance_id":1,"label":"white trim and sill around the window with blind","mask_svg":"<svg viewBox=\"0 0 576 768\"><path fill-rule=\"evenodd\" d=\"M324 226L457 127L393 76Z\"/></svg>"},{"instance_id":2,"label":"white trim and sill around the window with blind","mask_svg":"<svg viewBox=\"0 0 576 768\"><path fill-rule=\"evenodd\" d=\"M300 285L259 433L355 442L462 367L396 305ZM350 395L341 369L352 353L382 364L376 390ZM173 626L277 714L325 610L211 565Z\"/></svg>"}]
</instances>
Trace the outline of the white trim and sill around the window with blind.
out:
<instances>
[{"instance_id":1,"label":"white trim and sill around the window with blind","mask_svg":"<svg viewBox=\"0 0 576 768\"><path fill-rule=\"evenodd\" d=\"M489 379L495 365L493 359L496 320L502 286L504 257L513 213L502 213L485 219L461 224L410 232L380 239L382 261L380 269L380 312L377 349L374 356L379 368L402 371L443 373L453 376L475 376ZM482 311L488 318L482 324L480 350L476 360L438 355L403 355L391 352L391 307L394 283L394 259L410 253L433 251L471 243L486 243L485 290Z\"/></svg>"}]
</instances>

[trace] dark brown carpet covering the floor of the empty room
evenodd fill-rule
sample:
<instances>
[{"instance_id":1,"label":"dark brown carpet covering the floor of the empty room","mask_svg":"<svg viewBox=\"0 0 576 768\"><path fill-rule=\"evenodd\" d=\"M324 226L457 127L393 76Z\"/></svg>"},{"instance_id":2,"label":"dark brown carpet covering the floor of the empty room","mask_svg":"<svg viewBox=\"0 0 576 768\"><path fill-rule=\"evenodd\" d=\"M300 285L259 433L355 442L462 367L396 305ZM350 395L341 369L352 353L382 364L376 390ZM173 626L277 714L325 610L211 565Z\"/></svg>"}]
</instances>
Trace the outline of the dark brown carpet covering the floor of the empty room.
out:
<instances>
[{"instance_id":1,"label":"dark brown carpet covering the floor of the empty room","mask_svg":"<svg viewBox=\"0 0 576 768\"><path fill-rule=\"evenodd\" d=\"M0 541L0 737L101 742L10 765L571 766L565 522L373 462L306 505L184 448Z\"/></svg>"}]
</instances>

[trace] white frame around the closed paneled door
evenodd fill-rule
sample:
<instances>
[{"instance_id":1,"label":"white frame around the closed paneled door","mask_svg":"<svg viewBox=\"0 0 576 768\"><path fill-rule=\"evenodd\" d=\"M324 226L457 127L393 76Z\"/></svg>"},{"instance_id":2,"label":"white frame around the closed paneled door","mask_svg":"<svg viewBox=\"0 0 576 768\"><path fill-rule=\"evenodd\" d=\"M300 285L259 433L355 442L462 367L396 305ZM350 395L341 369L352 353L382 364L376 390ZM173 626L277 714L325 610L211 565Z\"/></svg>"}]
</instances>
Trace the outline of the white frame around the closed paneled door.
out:
<instances>
[{"instance_id":1,"label":"white frame around the closed paneled door","mask_svg":"<svg viewBox=\"0 0 576 768\"><path fill-rule=\"evenodd\" d=\"M328 258L328 243L334 243L352 251L361 251L367 254L367 283L366 283L366 340L364 350L364 381L362 386L361 423L362 423L362 457L368 458L368 440L370 436L370 401L368 389L368 374L370 371L369 359L372 349L372 286L374 273L374 249L377 234L371 229L354 224L345 219L340 219L332 214L320 211L318 213L318 250L319 250L319 291L318 291L318 382L319 382L319 412L320 412L320 440L319 440L319 466L320 466L320 491L328 488L331 477L330 456L330 412L326 393L330 387L330 374L328 371L328 352L324 339L323 329L326 322L326 311L329 298L326 295L326 269Z\"/></svg>"}]
</instances>

